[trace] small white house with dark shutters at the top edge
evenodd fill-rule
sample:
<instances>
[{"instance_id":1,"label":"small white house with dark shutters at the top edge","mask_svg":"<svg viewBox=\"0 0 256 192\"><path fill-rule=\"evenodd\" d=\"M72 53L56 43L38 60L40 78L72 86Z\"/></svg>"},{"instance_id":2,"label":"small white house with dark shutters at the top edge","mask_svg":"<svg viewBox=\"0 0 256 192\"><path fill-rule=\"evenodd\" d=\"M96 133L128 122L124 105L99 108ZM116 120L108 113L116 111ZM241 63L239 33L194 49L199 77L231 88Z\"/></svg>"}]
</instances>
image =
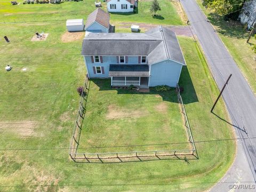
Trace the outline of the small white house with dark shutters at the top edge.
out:
<instances>
[{"instance_id":1,"label":"small white house with dark shutters at the top edge","mask_svg":"<svg viewBox=\"0 0 256 192\"><path fill-rule=\"evenodd\" d=\"M137 0L107 0L108 12L133 12Z\"/></svg>"}]
</instances>

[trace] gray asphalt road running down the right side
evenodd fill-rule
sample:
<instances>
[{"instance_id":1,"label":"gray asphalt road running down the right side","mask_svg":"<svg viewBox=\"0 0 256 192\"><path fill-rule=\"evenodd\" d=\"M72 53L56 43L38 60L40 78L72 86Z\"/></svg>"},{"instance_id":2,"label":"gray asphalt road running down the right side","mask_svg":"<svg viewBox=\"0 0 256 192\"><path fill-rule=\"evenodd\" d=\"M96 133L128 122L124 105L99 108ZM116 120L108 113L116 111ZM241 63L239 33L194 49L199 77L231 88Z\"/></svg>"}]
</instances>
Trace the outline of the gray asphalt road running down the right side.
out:
<instances>
[{"instance_id":1,"label":"gray asphalt road running down the right side","mask_svg":"<svg viewBox=\"0 0 256 192\"><path fill-rule=\"evenodd\" d=\"M181 0L181 3L220 90L228 76L233 74L227 89L223 92L223 99L236 137L244 138L237 140L237 155L234 164L211 191L256 191L255 95L195 0Z\"/></svg>"}]
</instances>

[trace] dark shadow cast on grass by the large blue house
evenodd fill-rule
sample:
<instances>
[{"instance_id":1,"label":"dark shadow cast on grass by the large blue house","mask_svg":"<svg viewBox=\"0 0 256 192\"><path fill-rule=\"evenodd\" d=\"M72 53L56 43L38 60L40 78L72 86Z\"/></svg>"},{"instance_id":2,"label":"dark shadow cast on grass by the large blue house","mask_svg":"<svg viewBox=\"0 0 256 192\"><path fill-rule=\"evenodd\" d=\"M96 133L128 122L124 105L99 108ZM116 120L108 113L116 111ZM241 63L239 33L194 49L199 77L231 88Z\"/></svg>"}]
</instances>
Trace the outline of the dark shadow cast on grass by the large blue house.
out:
<instances>
[{"instance_id":1,"label":"dark shadow cast on grass by the large blue house","mask_svg":"<svg viewBox=\"0 0 256 192\"><path fill-rule=\"evenodd\" d=\"M90 80L99 87L100 91L116 90L117 94L158 94L163 98L163 101L178 103L177 94L175 92L176 89L174 87L173 89L171 89L171 91L167 91L167 92L155 91L154 87L150 87L150 92L139 92L136 90L123 89L122 87L118 89L111 88L110 79L93 79L92 78ZM182 68L179 85L180 87L182 86L184 89L184 91L181 93L181 97L183 99L184 104L198 102L196 91L191 81L187 67Z\"/></svg>"}]
</instances>

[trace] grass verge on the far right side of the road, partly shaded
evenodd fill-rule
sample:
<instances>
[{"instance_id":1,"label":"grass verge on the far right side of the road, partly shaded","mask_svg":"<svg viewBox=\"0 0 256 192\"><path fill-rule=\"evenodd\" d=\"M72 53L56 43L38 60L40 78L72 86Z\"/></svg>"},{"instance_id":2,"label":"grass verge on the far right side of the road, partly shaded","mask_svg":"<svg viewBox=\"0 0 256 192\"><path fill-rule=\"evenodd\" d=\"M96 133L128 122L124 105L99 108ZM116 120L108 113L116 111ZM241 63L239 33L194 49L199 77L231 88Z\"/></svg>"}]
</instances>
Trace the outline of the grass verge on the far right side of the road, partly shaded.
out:
<instances>
[{"instance_id":1,"label":"grass verge on the far right side of the road, partly shaded","mask_svg":"<svg viewBox=\"0 0 256 192\"><path fill-rule=\"evenodd\" d=\"M241 69L253 92L256 93L256 61L254 60L256 54L251 49L256 44L256 39L252 37L250 43L246 43L249 33L241 23L238 21L224 21L221 17L213 14L211 10L205 9L201 1L197 0L197 2L214 28L217 29L222 42Z\"/></svg>"}]
</instances>

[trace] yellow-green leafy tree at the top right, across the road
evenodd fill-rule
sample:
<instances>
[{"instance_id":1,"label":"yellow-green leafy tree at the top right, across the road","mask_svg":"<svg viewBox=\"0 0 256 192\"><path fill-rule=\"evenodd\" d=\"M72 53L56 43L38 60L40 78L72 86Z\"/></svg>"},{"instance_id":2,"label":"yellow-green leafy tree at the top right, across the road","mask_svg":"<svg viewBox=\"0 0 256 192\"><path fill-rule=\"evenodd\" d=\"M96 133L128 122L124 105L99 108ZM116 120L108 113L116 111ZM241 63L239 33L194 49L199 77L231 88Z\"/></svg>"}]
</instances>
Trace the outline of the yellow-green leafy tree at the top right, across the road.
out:
<instances>
[{"instance_id":1,"label":"yellow-green leafy tree at the top right, across the road","mask_svg":"<svg viewBox=\"0 0 256 192\"><path fill-rule=\"evenodd\" d=\"M239 13L245 0L203 0L203 5L219 15Z\"/></svg>"}]
</instances>

